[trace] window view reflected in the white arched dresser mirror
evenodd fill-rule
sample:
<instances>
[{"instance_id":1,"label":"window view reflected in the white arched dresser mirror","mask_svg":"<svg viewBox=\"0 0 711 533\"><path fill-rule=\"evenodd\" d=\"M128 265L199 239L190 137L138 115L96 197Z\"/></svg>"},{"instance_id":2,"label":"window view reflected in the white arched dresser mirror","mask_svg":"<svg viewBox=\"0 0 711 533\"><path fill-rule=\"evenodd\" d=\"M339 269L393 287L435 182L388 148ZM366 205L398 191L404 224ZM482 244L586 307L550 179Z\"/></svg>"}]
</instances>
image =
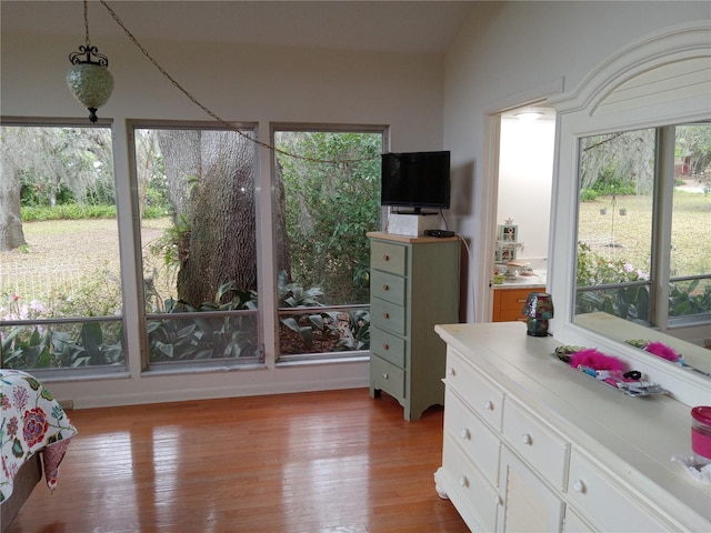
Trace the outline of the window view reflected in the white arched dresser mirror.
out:
<instances>
[{"instance_id":1,"label":"window view reflected in the white arched dresser mirror","mask_svg":"<svg viewBox=\"0 0 711 533\"><path fill-rule=\"evenodd\" d=\"M711 321L711 124L580 141L575 313Z\"/></svg>"}]
</instances>

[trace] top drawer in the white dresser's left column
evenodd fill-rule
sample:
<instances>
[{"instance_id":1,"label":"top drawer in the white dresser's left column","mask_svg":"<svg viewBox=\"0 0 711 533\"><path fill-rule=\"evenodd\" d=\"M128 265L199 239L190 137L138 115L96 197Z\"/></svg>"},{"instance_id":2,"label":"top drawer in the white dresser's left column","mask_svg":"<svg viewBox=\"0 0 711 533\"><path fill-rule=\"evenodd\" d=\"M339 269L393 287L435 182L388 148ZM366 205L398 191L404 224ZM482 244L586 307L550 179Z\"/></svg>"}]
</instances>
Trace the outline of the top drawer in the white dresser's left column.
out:
<instances>
[{"instance_id":1,"label":"top drawer in the white dresser's left column","mask_svg":"<svg viewBox=\"0 0 711 533\"><path fill-rule=\"evenodd\" d=\"M453 388L482 420L501 431L503 392L454 349L447 349L447 386Z\"/></svg>"}]
</instances>

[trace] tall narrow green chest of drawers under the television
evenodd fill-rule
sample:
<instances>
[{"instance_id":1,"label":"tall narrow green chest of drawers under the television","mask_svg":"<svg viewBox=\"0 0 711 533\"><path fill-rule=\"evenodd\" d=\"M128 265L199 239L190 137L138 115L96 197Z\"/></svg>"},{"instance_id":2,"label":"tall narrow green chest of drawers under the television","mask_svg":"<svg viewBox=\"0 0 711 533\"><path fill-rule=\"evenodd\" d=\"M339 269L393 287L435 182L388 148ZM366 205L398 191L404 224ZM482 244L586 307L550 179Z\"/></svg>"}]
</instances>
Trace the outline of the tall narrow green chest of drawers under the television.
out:
<instances>
[{"instance_id":1,"label":"tall narrow green chest of drawers under the television","mask_svg":"<svg viewBox=\"0 0 711 533\"><path fill-rule=\"evenodd\" d=\"M384 391L418 420L444 404L445 344L434 324L459 322L459 238L368 233L370 395Z\"/></svg>"}]
</instances>

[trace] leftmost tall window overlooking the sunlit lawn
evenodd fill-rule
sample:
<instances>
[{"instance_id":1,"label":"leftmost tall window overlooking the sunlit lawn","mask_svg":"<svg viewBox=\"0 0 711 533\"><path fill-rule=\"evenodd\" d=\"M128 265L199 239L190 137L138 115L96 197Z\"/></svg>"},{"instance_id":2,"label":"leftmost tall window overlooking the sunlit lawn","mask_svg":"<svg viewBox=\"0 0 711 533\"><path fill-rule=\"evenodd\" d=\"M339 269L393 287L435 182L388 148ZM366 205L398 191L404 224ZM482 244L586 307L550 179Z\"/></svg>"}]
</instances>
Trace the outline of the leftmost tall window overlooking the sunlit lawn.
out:
<instances>
[{"instance_id":1,"label":"leftmost tall window overlooking the sunlit lawn","mask_svg":"<svg viewBox=\"0 0 711 533\"><path fill-rule=\"evenodd\" d=\"M126 368L111 130L0 129L2 366Z\"/></svg>"}]
</instances>

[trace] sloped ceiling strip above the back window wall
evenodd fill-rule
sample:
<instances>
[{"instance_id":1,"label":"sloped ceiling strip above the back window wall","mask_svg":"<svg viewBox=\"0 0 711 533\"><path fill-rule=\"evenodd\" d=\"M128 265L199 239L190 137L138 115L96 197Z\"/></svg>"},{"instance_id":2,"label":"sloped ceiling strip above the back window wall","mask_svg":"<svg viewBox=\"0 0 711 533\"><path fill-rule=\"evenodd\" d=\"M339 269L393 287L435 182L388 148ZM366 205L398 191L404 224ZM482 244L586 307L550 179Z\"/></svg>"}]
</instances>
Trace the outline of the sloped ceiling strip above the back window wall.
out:
<instances>
[{"instance_id":1,"label":"sloped ceiling strip above the back window wall","mask_svg":"<svg viewBox=\"0 0 711 533\"><path fill-rule=\"evenodd\" d=\"M113 1L108 6L139 40L443 53L473 1ZM123 36L99 1L89 2L92 43ZM83 42L81 1L0 1L2 32L76 34ZM99 46L99 44L98 44Z\"/></svg>"}]
</instances>

